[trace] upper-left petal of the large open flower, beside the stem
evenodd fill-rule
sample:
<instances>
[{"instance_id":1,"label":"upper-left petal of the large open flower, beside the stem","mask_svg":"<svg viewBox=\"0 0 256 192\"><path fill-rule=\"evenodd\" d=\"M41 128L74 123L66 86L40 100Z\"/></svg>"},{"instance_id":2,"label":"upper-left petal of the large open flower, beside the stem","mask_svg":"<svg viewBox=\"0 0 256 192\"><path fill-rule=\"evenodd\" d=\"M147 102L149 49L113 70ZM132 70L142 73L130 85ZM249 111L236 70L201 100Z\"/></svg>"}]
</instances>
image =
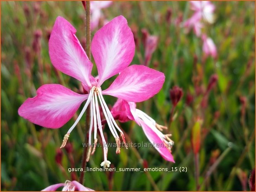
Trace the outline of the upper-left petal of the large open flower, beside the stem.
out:
<instances>
[{"instance_id":1,"label":"upper-left petal of the large open flower, beside the stem","mask_svg":"<svg viewBox=\"0 0 256 192\"><path fill-rule=\"evenodd\" d=\"M57 17L49 40L49 55L53 66L90 86L93 64L75 36L76 29L63 17Z\"/></svg>"}]
</instances>

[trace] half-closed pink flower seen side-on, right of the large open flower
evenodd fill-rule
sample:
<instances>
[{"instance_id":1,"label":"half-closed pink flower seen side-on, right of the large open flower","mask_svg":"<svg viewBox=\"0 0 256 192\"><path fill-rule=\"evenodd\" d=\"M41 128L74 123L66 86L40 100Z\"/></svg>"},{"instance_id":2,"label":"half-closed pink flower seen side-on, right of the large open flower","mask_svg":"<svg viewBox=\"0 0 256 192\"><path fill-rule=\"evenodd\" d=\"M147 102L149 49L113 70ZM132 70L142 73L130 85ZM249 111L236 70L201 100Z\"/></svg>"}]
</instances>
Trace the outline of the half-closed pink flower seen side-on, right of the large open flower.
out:
<instances>
[{"instance_id":1,"label":"half-closed pink flower seen side-on, right of the large open flower","mask_svg":"<svg viewBox=\"0 0 256 192\"><path fill-rule=\"evenodd\" d=\"M135 121L141 126L148 140L153 144L156 150L158 150L161 156L167 161L175 162L171 154L171 149L174 145L174 142L170 139L171 134L163 134L161 132L163 129L167 129L167 127L159 125L146 113L136 109L135 102L127 102L118 99L111 113L113 116L118 116L120 122L129 120Z\"/></svg>"}]
</instances>

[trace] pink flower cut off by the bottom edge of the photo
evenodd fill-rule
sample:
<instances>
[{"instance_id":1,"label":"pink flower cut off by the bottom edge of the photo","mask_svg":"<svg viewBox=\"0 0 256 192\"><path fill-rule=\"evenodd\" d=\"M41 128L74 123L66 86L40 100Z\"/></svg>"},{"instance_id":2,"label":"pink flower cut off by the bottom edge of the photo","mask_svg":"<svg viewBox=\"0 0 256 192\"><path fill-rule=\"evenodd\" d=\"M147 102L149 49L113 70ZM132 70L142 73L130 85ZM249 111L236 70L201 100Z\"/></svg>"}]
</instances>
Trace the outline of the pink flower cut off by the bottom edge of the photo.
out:
<instances>
[{"instance_id":1,"label":"pink flower cut off by the bottom edge of the photo","mask_svg":"<svg viewBox=\"0 0 256 192\"><path fill-rule=\"evenodd\" d=\"M88 187L84 187L84 185L78 183L77 181L69 180L66 180L65 183L50 185L49 187L46 187L42 191L56 191L59 187L63 187L62 191L94 191Z\"/></svg>"}]
</instances>

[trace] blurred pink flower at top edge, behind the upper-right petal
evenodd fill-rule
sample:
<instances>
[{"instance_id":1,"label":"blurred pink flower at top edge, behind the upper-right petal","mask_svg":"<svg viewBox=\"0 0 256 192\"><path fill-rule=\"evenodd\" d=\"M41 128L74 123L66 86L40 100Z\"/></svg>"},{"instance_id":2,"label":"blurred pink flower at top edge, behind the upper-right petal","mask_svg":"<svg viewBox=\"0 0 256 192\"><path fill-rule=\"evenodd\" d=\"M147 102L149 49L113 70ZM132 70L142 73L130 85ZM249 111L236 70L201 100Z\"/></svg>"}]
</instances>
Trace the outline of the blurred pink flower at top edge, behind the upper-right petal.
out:
<instances>
[{"instance_id":1,"label":"blurred pink flower at top edge, behind the upper-right petal","mask_svg":"<svg viewBox=\"0 0 256 192\"><path fill-rule=\"evenodd\" d=\"M101 9L109 7L111 3L112 1L91 1L91 30L99 24L102 15Z\"/></svg>"}]
</instances>

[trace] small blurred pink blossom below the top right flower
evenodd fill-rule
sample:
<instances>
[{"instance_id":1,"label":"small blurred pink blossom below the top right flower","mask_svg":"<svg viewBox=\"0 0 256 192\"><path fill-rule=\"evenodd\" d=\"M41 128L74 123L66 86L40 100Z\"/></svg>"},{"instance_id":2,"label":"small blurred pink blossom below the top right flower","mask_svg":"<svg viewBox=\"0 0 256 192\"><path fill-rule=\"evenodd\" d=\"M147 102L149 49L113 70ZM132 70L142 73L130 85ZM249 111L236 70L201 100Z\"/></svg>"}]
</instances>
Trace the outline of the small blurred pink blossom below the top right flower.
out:
<instances>
[{"instance_id":1,"label":"small blurred pink blossom below the top right flower","mask_svg":"<svg viewBox=\"0 0 256 192\"><path fill-rule=\"evenodd\" d=\"M202 35L203 40L203 52L206 56L211 56L214 59L217 57L217 48L215 44L213 43L213 40L209 37L206 37L206 35Z\"/></svg>"}]
</instances>

